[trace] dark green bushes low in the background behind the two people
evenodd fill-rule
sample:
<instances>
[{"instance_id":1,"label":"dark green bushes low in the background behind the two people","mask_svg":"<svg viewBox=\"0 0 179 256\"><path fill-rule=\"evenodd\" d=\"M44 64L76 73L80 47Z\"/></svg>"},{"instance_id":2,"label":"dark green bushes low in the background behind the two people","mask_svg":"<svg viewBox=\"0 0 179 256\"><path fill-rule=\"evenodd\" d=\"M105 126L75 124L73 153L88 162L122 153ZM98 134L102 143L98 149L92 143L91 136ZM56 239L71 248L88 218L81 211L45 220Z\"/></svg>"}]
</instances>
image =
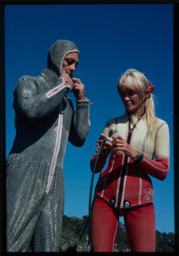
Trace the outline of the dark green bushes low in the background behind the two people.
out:
<instances>
[{"instance_id":1,"label":"dark green bushes low in the background behind the two people","mask_svg":"<svg viewBox=\"0 0 179 256\"><path fill-rule=\"evenodd\" d=\"M88 216L82 218L63 216L63 227L60 242L60 251L66 251L68 247L74 246L81 236ZM77 252L85 252L88 244L88 226L77 246ZM124 225L119 222L114 252L130 251ZM175 252L174 233L160 233L156 231L156 252Z\"/></svg>"}]
</instances>

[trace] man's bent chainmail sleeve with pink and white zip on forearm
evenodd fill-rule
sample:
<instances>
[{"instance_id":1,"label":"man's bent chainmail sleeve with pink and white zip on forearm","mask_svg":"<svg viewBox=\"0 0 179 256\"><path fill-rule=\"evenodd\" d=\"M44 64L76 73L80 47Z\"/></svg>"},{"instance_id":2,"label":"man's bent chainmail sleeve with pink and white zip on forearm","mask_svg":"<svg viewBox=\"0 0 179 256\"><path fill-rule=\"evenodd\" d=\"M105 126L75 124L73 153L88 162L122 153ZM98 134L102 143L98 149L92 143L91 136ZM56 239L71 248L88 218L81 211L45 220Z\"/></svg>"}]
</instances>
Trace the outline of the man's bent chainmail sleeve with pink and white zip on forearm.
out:
<instances>
[{"instance_id":1,"label":"man's bent chainmail sleeve with pink and white zip on forearm","mask_svg":"<svg viewBox=\"0 0 179 256\"><path fill-rule=\"evenodd\" d=\"M57 80L53 88L48 90L46 88L42 93L39 91L40 88L39 81L37 86L37 81L30 76L21 77L16 84L13 106L20 111L26 121L34 121L50 115L71 87L64 83L62 77Z\"/></svg>"}]
</instances>

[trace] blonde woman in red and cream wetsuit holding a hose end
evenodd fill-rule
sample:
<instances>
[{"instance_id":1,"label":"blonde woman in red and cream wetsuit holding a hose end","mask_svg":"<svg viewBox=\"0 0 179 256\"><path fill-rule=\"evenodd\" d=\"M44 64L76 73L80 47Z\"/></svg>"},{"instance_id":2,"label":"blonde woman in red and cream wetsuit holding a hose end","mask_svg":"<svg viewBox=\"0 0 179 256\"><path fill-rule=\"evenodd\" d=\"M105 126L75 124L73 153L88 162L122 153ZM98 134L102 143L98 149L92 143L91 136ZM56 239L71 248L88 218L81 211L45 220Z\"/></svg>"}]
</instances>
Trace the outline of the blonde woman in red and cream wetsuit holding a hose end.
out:
<instances>
[{"instance_id":1,"label":"blonde woman in red and cream wetsuit holding a hose end","mask_svg":"<svg viewBox=\"0 0 179 256\"><path fill-rule=\"evenodd\" d=\"M113 138L112 144L105 142L97 163L96 172L100 172L110 154L92 210L92 251L113 251L119 217L123 216L130 250L154 252L155 212L149 175L164 180L168 174L169 129L155 117L154 87L144 74L127 70L119 78L117 90L126 111L110 119L97 140L98 151L103 138Z\"/></svg>"}]
</instances>

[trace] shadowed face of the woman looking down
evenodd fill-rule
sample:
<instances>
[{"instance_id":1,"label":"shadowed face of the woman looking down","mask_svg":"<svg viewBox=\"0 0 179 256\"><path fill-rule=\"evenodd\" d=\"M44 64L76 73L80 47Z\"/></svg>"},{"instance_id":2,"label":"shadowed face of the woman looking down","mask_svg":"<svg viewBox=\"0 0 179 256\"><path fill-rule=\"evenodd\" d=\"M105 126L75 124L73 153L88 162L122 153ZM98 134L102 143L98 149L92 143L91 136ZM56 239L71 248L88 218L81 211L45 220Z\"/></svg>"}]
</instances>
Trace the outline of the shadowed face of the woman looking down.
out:
<instances>
[{"instance_id":1,"label":"shadowed face of the woman looking down","mask_svg":"<svg viewBox=\"0 0 179 256\"><path fill-rule=\"evenodd\" d=\"M139 95L139 92L137 92L135 88L126 91L120 90L120 97L127 111L131 113L137 113L138 111L141 111L142 97Z\"/></svg>"}]
</instances>

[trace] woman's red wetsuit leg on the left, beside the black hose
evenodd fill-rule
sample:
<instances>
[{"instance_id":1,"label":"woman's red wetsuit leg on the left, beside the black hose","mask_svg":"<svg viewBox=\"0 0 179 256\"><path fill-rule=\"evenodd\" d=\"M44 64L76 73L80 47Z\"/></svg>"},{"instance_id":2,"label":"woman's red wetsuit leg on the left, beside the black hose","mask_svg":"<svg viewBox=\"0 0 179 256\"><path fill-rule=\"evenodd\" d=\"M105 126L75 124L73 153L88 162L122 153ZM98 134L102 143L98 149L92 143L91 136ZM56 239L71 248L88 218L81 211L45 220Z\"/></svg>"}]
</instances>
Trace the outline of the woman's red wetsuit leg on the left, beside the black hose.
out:
<instances>
[{"instance_id":1,"label":"woman's red wetsuit leg on the left, beside the black hose","mask_svg":"<svg viewBox=\"0 0 179 256\"><path fill-rule=\"evenodd\" d=\"M92 210L92 251L112 252L118 228L118 216L114 209L96 198Z\"/></svg>"}]
</instances>

